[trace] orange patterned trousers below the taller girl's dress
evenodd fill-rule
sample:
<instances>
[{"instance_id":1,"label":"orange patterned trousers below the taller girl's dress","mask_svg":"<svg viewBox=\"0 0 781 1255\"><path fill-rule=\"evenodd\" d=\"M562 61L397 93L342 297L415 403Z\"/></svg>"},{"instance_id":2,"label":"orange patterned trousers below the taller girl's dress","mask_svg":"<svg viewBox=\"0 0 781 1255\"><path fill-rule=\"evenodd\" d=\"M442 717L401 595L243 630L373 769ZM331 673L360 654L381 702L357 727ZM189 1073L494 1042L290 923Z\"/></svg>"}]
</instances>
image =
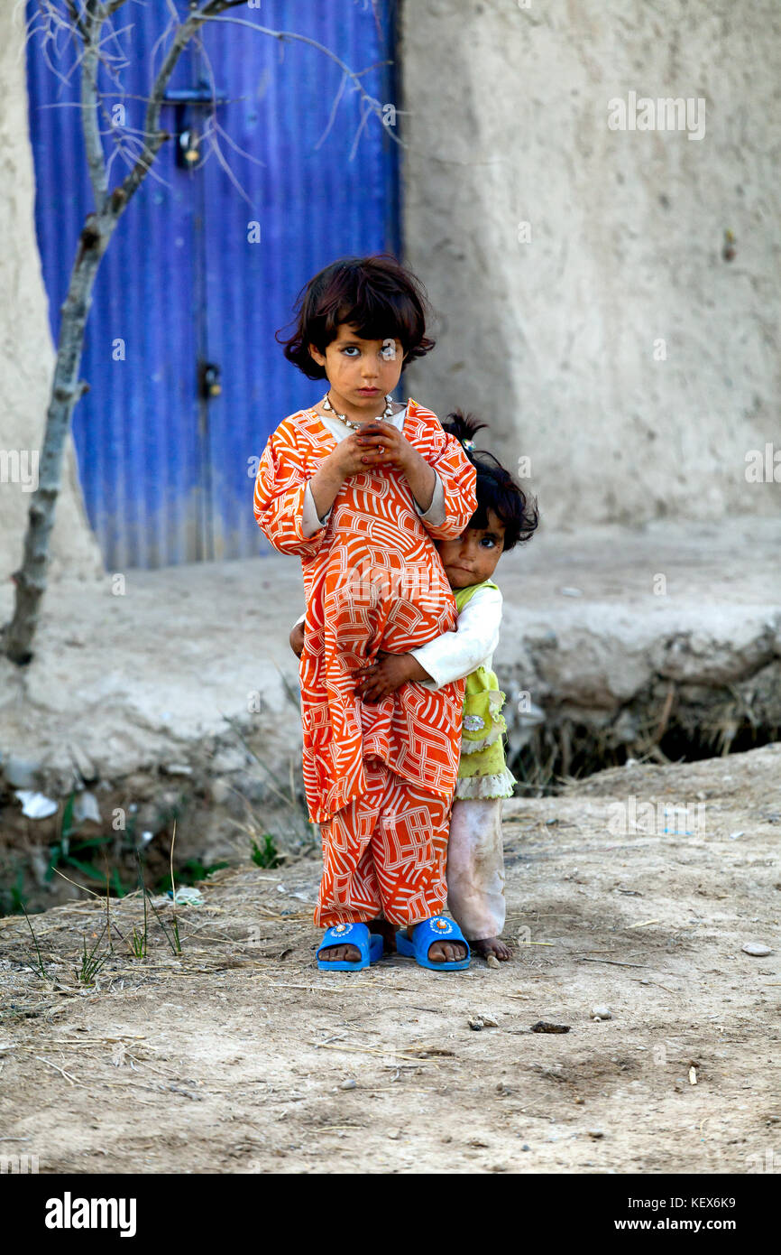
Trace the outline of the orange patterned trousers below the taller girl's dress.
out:
<instances>
[{"instance_id":1,"label":"orange patterned trousers below the taller girl's dress","mask_svg":"<svg viewBox=\"0 0 781 1255\"><path fill-rule=\"evenodd\" d=\"M318 927L367 921L417 924L445 909L450 799L426 793L379 759L369 789L321 826Z\"/></svg>"}]
</instances>

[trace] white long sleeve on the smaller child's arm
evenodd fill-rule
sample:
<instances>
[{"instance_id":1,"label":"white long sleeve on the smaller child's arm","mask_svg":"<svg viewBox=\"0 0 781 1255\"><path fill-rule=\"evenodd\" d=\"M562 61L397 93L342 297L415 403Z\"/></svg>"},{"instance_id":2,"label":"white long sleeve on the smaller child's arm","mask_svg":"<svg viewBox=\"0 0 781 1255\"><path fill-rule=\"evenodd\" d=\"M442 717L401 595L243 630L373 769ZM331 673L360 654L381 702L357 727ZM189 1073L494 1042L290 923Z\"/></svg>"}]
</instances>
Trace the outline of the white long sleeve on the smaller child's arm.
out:
<instances>
[{"instance_id":1,"label":"white long sleeve on the smaller child's arm","mask_svg":"<svg viewBox=\"0 0 781 1255\"><path fill-rule=\"evenodd\" d=\"M430 681L420 683L430 689L441 689L444 684L471 675L478 666L490 671L500 624L499 589L479 589L461 610L455 631L443 633L427 645L410 651L431 676Z\"/></svg>"}]
</instances>

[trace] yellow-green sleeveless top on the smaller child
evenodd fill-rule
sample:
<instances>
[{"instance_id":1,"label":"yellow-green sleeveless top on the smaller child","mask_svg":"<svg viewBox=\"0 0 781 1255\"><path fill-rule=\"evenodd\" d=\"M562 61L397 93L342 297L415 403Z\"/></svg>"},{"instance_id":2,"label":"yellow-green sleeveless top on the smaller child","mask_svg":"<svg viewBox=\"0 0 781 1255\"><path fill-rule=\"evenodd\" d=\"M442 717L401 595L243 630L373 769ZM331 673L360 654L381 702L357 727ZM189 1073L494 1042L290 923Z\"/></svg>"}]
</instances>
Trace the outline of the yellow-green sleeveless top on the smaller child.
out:
<instances>
[{"instance_id":1,"label":"yellow-green sleeveless top on the smaller child","mask_svg":"<svg viewBox=\"0 0 781 1255\"><path fill-rule=\"evenodd\" d=\"M480 589L496 589L493 580L455 589L459 614ZM455 797L491 799L511 797L515 777L504 761L503 735L506 723L501 714L505 697L493 670L478 666L466 676L461 722L461 761Z\"/></svg>"}]
</instances>

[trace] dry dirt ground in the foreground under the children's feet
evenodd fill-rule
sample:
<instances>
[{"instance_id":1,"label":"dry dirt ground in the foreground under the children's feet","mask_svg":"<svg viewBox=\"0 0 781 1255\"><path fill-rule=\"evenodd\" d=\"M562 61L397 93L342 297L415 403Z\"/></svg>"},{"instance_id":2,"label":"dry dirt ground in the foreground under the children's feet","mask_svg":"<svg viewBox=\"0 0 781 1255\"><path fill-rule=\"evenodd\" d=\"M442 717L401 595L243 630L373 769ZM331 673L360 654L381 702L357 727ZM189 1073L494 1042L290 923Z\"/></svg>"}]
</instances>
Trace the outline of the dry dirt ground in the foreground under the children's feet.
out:
<instances>
[{"instance_id":1,"label":"dry dirt ground in the foreground under the children's feet","mask_svg":"<svg viewBox=\"0 0 781 1255\"><path fill-rule=\"evenodd\" d=\"M648 802L688 806L689 835ZM621 831L631 806L647 831ZM505 828L499 969L317 971L311 860L218 872L179 909L181 958L155 922L145 961L123 954L142 901L113 904L93 988L74 968L99 902L33 917L46 981L24 919L0 921L0 1153L44 1173L778 1172L781 743L603 772L508 803Z\"/></svg>"}]
</instances>

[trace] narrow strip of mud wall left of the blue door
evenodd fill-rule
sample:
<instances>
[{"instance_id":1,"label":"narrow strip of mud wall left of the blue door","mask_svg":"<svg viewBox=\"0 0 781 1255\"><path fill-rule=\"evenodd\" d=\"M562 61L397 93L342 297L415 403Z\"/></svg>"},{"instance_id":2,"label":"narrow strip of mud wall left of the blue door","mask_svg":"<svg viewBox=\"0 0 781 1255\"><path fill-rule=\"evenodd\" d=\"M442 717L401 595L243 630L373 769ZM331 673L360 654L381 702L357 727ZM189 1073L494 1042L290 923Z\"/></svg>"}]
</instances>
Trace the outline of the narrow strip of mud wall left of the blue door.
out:
<instances>
[{"instance_id":1,"label":"narrow strip of mud wall left of the blue door","mask_svg":"<svg viewBox=\"0 0 781 1255\"><path fill-rule=\"evenodd\" d=\"M29 137L24 11L0 10L0 354L3 410L0 449L40 451L54 370L55 349L48 316L40 255L35 237L35 181ZM56 231L56 221L50 230ZM10 462L0 467L0 579L21 562L33 493L10 482ZM21 463L23 468L25 463ZM33 463L26 463L31 469ZM31 483L31 478L28 478ZM69 439L63 484L51 537L50 576L66 571L90 579L102 570L100 553L81 502L73 441Z\"/></svg>"}]
</instances>

